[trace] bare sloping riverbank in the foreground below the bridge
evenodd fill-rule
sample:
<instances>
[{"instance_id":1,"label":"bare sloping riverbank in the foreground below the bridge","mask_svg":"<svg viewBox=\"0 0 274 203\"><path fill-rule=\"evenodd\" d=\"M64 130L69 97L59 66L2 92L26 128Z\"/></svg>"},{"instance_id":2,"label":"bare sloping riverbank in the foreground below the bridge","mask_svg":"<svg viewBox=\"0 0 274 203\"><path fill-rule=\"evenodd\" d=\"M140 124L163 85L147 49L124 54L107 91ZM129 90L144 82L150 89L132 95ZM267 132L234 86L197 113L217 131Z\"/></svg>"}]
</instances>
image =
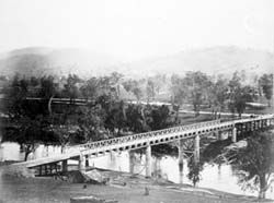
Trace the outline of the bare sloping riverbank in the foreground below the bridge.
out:
<instances>
[{"instance_id":1,"label":"bare sloping riverbank in the foreground below the bridge","mask_svg":"<svg viewBox=\"0 0 274 203\"><path fill-rule=\"evenodd\" d=\"M12 176L10 166L0 167L0 202L49 203L69 202L70 198L95 195L119 203L204 203L204 202L259 202L254 196L236 195L217 190L175 184L164 179L147 179L128 172L104 170L107 184L71 183L54 178ZM7 175L9 170L9 175ZM146 195L146 190L149 195ZM260 202L273 202L261 200Z\"/></svg>"}]
</instances>

